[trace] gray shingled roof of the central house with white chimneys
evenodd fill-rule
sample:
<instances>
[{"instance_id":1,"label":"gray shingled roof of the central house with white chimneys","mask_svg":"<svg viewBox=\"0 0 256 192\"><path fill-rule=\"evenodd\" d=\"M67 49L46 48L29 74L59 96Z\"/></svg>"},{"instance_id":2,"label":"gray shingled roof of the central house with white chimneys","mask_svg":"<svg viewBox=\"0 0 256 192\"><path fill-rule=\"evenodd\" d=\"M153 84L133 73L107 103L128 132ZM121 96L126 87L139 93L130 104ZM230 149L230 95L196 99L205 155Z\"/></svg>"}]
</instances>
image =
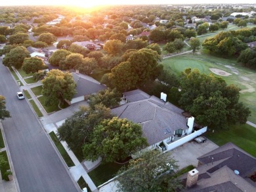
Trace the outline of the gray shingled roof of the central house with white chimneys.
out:
<instances>
[{"instance_id":1,"label":"gray shingled roof of the central house with white chimneys","mask_svg":"<svg viewBox=\"0 0 256 192\"><path fill-rule=\"evenodd\" d=\"M149 96L141 90L124 93L129 101L122 106L112 109L112 113L119 118L127 118L142 126L143 136L148 144L156 144L173 136L175 130L186 130L187 119L178 107L165 103L155 96Z\"/></svg>"}]
</instances>

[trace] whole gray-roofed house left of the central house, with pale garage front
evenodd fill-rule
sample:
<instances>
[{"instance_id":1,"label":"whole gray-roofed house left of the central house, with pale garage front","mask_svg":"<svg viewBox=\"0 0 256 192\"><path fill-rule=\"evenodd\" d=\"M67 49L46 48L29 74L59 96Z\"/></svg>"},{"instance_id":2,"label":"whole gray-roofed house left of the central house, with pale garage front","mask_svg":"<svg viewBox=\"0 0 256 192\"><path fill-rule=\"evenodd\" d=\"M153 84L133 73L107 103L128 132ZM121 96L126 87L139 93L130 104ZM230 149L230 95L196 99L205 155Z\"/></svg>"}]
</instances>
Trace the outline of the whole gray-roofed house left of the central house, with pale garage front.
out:
<instances>
[{"instance_id":1,"label":"whole gray-roofed house left of the central house, with pale garage front","mask_svg":"<svg viewBox=\"0 0 256 192\"><path fill-rule=\"evenodd\" d=\"M96 81L92 77L89 77L88 75L72 73L72 76L77 85L77 92L72 98L70 104L81 102L85 100L86 96L89 96L90 94L96 94L100 90L106 89L105 85L100 84L98 81Z\"/></svg>"}]
</instances>

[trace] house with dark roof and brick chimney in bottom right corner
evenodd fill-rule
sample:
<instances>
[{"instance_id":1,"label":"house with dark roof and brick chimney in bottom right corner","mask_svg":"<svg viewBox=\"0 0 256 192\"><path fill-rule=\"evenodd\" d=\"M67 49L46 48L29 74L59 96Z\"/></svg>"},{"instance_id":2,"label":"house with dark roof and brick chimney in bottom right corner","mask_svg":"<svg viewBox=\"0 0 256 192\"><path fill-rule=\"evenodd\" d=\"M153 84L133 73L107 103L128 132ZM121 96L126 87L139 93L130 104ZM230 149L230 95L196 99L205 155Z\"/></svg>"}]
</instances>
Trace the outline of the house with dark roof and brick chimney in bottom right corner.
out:
<instances>
[{"instance_id":1,"label":"house with dark roof and brick chimney in bottom right corner","mask_svg":"<svg viewBox=\"0 0 256 192\"><path fill-rule=\"evenodd\" d=\"M256 158L227 143L198 158L198 167L181 176L184 191L256 191Z\"/></svg>"}]
</instances>

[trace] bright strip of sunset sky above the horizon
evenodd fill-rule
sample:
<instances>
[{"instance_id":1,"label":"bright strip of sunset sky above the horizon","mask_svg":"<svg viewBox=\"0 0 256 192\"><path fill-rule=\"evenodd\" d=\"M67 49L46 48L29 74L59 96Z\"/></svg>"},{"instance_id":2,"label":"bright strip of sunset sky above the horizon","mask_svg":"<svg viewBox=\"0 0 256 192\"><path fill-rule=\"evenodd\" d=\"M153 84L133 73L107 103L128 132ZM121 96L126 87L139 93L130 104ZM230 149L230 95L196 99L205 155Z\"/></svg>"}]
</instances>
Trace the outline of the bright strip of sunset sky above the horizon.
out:
<instances>
[{"instance_id":1,"label":"bright strip of sunset sky above the horizon","mask_svg":"<svg viewBox=\"0 0 256 192\"><path fill-rule=\"evenodd\" d=\"M129 0L129 1L117 1L117 0L93 0L93 1L81 1L81 0L43 0L43 1L35 1L35 0L9 0L9 1L1 1L1 6L7 5L74 5L78 7L93 7L95 5L133 5L133 4L181 4L181 3L255 3L255 0L179 0L179 1L170 1L170 0Z\"/></svg>"}]
</instances>

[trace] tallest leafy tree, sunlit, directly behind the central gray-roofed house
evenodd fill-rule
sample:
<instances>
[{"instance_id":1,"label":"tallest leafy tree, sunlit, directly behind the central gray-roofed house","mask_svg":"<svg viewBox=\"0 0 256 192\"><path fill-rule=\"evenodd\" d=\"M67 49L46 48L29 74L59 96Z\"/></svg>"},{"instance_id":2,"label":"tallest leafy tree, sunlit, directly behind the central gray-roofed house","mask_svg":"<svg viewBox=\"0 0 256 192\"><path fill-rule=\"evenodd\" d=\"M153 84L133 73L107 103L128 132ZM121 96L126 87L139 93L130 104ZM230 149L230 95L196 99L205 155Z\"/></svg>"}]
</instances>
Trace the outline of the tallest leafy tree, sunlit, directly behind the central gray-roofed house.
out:
<instances>
[{"instance_id":1,"label":"tallest leafy tree, sunlit, directly behind the central gray-roofed house","mask_svg":"<svg viewBox=\"0 0 256 192\"><path fill-rule=\"evenodd\" d=\"M127 52L123 55L124 62L114 67L109 75L112 85L123 91L154 81L162 69L158 59L158 52L148 48Z\"/></svg>"}]
</instances>

